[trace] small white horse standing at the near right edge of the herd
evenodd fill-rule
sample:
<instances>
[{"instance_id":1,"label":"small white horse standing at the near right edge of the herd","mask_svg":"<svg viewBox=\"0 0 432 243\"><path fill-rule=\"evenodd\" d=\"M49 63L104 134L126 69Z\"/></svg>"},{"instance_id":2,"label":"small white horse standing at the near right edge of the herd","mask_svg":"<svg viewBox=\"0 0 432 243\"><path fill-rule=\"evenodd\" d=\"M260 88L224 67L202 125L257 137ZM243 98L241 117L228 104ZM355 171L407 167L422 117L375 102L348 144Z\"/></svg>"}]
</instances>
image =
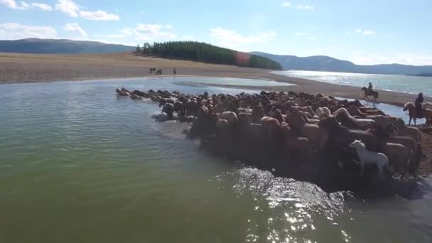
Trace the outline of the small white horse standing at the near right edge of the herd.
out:
<instances>
[{"instance_id":1,"label":"small white horse standing at the near right edge of the herd","mask_svg":"<svg viewBox=\"0 0 432 243\"><path fill-rule=\"evenodd\" d=\"M357 163L360 164L360 175L363 175L365 171L365 165L367 164L375 164L378 168L378 173L380 178L384 178L383 171L384 167L389 166L389 158L384 153L376 153L372 151L368 151L365 144L360 140L355 140L352 144L349 145L350 148L355 148L357 151L357 155L360 158L360 161Z\"/></svg>"}]
</instances>

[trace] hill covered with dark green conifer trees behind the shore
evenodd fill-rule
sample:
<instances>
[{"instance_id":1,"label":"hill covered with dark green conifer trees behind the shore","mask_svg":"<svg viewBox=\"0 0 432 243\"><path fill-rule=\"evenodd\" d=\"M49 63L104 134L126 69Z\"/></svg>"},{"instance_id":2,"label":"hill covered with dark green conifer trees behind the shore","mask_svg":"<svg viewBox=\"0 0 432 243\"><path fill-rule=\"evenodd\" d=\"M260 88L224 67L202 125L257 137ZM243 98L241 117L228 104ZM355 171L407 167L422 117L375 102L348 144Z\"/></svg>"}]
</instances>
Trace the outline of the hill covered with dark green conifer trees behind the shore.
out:
<instances>
[{"instance_id":1,"label":"hill covered with dark green conifer trees behind the shore","mask_svg":"<svg viewBox=\"0 0 432 243\"><path fill-rule=\"evenodd\" d=\"M136 52L141 55L157 56L183 60L195 60L203 63L237 65L249 68L265 68L281 70L282 66L258 55L241 53L228 48L221 48L196 41L169 41L163 43L144 43L142 48L137 45Z\"/></svg>"}]
</instances>

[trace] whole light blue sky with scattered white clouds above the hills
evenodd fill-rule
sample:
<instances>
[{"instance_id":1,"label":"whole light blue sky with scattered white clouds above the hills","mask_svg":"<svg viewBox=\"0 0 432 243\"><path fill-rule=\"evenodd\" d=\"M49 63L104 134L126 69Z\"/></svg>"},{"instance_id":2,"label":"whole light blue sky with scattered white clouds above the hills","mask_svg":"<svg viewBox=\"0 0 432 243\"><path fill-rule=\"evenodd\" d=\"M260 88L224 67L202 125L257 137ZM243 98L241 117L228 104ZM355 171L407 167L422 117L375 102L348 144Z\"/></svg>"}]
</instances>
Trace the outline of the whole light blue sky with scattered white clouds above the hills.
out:
<instances>
[{"instance_id":1,"label":"whole light blue sky with scattered white clouds above the hills","mask_svg":"<svg viewBox=\"0 0 432 243\"><path fill-rule=\"evenodd\" d=\"M431 9L431 0L0 0L0 39L193 40L357 64L432 65Z\"/></svg>"}]
</instances>

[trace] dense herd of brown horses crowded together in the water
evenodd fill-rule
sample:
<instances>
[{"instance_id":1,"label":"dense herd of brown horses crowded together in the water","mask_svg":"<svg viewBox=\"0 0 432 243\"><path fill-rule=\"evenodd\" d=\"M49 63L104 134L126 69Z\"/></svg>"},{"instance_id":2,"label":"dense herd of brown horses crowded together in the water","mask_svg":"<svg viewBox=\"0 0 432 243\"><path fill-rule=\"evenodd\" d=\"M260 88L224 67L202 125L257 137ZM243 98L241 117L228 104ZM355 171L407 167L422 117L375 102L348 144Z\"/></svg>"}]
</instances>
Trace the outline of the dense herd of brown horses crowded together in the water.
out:
<instances>
[{"instance_id":1,"label":"dense herd of brown horses crowded together in the water","mask_svg":"<svg viewBox=\"0 0 432 243\"><path fill-rule=\"evenodd\" d=\"M337 190L414 174L423 156L419 129L358 100L304 92L116 92L151 99L168 119L191 122L187 136L217 156Z\"/></svg>"}]
</instances>

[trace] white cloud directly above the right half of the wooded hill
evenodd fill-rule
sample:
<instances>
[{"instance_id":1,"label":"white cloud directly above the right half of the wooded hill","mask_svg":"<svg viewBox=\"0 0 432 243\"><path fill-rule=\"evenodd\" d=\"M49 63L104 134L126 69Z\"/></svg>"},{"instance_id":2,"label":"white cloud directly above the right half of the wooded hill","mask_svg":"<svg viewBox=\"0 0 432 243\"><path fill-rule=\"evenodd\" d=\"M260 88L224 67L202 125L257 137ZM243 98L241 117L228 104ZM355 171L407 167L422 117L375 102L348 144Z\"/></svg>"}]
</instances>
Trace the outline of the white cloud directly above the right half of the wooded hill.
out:
<instances>
[{"instance_id":1,"label":"white cloud directly above the right half of the wooded hill","mask_svg":"<svg viewBox=\"0 0 432 243\"><path fill-rule=\"evenodd\" d=\"M210 30L210 37L216 41L217 45L229 48L239 48L240 45L262 43L271 41L276 36L273 31L259 33L257 35L242 36L236 31L217 27Z\"/></svg>"}]
</instances>

